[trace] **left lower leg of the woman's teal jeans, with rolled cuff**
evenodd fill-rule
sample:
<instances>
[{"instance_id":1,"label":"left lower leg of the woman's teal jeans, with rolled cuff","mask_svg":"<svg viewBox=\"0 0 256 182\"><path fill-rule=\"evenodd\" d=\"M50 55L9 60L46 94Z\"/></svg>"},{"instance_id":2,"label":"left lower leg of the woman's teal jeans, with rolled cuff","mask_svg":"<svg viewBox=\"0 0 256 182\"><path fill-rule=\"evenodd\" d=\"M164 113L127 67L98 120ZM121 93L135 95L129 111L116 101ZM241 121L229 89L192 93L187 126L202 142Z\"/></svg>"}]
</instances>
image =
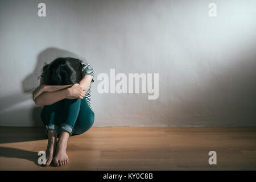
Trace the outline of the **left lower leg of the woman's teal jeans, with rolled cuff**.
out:
<instances>
[{"instance_id":1,"label":"left lower leg of the woman's teal jeans, with rolled cuff","mask_svg":"<svg viewBox=\"0 0 256 182\"><path fill-rule=\"evenodd\" d=\"M59 118L61 116L61 101L43 107L40 117L46 126L46 135L48 129L59 131Z\"/></svg>"}]
</instances>

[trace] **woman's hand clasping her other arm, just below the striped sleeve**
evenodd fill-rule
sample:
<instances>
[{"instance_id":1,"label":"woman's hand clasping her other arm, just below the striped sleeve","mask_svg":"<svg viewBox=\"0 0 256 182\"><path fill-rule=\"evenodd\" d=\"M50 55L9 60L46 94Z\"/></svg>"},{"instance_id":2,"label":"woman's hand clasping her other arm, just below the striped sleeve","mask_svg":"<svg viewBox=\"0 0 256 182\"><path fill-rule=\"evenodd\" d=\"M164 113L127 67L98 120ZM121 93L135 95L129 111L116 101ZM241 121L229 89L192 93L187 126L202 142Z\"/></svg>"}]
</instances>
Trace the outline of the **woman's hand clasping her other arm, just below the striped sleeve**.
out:
<instances>
[{"instance_id":1,"label":"woman's hand clasping her other arm, just below the striped sleeve","mask_svg":"<svg viewBox=\"0 0 256 182\"><path fill-rule=\"evenodd\" d=\"M80 86L80 84L74 84L67 90L68 90L68 93L66 98L68 99L75 99L75 98L83 99L85 97L86 89Z\"/></svg>"}]
</instances>

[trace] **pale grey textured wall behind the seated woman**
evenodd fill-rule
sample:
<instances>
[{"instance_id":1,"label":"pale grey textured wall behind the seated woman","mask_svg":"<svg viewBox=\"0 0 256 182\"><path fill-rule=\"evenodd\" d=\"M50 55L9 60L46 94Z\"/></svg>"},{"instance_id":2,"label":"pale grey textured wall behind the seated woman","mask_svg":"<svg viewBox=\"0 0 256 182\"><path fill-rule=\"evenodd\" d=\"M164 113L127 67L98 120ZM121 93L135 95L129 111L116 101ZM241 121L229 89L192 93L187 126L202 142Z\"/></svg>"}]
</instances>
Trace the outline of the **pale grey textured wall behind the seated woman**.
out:
<instances>
[{"instance_id":1,"label":"pale grey textured wall behind the seated woman","mask_svg":"<svg viewBox=\"0 0 256 182\"><path fill-rule=\"evenodd\" d=\"M256 1L40 2L0 1L0 126L43 126L31 90L58 56L95 69L94 126L256 126ZM98 93L110 68L159 73L158 99Z\"/></svg>"}]
</instances>

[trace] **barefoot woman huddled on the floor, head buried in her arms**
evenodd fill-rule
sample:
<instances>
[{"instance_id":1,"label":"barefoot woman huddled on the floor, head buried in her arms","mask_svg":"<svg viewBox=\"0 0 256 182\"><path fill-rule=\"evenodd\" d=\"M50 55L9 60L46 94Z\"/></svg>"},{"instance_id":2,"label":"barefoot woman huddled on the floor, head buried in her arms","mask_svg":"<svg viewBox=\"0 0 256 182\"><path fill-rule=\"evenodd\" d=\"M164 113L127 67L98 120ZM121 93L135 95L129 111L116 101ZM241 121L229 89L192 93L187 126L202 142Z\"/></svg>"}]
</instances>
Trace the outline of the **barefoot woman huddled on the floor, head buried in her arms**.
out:
<instances>
[{"instance_id":1,"label":"barefoot woman huddled on the floor, head buried in her arms","mask_svg":"<svg viewBox=\"0 0 256 182\"><path fill-rule=\"evenodd\" d=\"M94 122L90 104L94 69L79 59L59 57L44 65L39 77L33 101L44 106L40 117L48 136L46 166L51 162L63 166L68 164L69 136L84 133Z\"/></svg>"}]
</instances>

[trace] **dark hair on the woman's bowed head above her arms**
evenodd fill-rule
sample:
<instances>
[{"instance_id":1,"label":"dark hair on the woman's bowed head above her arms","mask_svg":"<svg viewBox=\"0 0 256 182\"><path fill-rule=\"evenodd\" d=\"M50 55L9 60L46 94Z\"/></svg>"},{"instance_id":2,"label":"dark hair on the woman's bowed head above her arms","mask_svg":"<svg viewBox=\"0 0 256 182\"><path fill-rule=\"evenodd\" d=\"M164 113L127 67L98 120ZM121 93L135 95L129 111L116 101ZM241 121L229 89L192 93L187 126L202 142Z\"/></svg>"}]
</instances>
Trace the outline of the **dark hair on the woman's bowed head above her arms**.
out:
<instances>
[{"instance_id":1,"label":"dark hair on the woman's bowed head above her arms","mask_svg":"<svg viewBox=\"0 0 256 182\"><path fill-rule=\"evenodd\" d=\"M82 78L81 60L73 57L58 57L44 65L44 84L69 85L77 84Z\"/></svg>"}]
</instances>

